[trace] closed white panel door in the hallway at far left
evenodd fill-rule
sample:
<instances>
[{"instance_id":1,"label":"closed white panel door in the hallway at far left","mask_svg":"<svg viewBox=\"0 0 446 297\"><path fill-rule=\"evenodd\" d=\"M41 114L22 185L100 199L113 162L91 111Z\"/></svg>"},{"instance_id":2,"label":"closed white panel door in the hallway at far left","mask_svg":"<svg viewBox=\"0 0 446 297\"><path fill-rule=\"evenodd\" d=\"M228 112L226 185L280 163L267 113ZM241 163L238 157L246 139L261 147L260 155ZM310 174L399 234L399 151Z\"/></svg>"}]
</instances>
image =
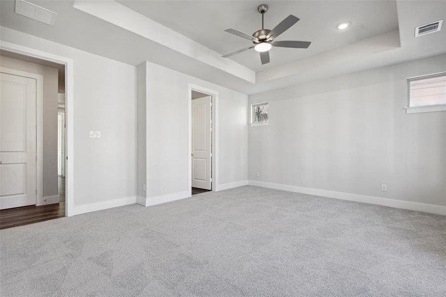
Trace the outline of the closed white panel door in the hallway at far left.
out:
<instances>
[{"instance_id":1,"label":"closed white panel door in the hallway at far left","mask_svg":"<svg viewBox=\"0 0 446 297\"><path fill-rule=\"evenodd\" d=\"M36 80L0 73L0 209L36 204Z\"/></svg>"}]
</instances>

